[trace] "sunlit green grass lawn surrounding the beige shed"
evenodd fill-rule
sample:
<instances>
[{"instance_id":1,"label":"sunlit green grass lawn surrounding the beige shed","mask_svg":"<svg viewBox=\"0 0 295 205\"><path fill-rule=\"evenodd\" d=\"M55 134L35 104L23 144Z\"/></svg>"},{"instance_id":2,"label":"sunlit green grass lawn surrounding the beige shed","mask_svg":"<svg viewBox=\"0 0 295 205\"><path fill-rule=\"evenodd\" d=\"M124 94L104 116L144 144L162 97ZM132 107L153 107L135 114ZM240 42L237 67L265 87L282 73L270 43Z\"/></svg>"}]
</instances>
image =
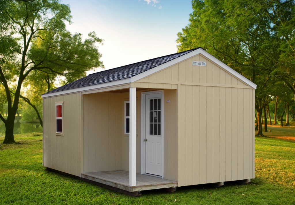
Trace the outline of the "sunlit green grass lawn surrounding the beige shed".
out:
<instances>
[{"instance_id":1,"label":"sunlit green grass lawn surrounding the beige shed","mask_svg":"<svg viewBox=\"0 0 295 205\"><path fill-rule=\"evenodd\" d=\"M0 204L295 204L295 143L290 141L256 137L256 178L250 184L187 186L132 197L42 167L41 133L15 140L0 143Z\"/></svg>"}]
</instances>

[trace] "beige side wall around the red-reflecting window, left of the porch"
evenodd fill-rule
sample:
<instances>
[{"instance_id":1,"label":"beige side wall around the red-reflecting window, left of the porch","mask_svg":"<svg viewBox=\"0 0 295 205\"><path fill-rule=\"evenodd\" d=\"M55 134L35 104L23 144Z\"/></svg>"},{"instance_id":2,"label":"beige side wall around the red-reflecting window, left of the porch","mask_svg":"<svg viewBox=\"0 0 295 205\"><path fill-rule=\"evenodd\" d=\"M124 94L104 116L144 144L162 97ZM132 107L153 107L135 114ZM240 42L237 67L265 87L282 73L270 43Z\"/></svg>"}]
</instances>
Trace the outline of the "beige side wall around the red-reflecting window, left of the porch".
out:
<instances>
[{"instance_id":1,"label":"beige side wall around the red-reflecting window, left of the porch","mask_svg":"<svg viewBox=\"0 0 295 205\"><path fill-rule=\"evenodd\" d=\"M64 136L55 134L55 103L61 101ZM43 166L80 176L81 94L44 98L43 125Z\"/></svg>"}]
</instances>

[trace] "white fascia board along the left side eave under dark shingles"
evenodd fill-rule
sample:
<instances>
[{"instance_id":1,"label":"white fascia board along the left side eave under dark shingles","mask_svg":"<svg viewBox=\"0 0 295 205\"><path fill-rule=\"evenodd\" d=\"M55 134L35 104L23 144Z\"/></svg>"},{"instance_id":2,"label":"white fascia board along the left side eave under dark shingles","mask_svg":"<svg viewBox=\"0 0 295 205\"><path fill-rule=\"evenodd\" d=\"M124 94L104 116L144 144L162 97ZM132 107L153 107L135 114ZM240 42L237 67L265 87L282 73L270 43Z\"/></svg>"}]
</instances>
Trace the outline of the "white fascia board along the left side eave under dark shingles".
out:
<instances>
[{"instance_id":1,"label":"white fascia board along the left side eave under dark shingles","mask_svg":"<svg viewBox=\"0 0 295 205\"><path fill-rule=\"evenodd\" d=\"M126 78L126 79L122 79L122 80L105 82L105 83L96 84L96 85L89 85L89 86L78 87L78 88L73 88L73 89L69 89L69 90L62 90L62 91L58 91L58 92L45 93L45 94L41 95L41 97L42 98L53 97L56 95L66 95L66 94L73 93L73 92L83 92L83 91L93 90L93 89L98 89L98 88L103 88L103 87L117 86L117 85L130 83L130 81L131 81L130 78Z\"/></svg>"}]
</instances>

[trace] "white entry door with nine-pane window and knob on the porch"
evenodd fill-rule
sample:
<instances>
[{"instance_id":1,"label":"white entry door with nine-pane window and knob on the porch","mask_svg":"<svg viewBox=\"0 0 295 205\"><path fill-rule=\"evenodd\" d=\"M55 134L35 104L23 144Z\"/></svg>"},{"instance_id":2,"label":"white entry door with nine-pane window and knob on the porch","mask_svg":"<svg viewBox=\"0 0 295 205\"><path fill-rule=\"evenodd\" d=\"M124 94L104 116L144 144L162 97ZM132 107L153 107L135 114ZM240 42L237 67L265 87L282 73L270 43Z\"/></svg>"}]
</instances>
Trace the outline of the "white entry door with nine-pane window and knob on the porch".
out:
<instances>
[{"instance_id":1,"label":"white entry door with nine-pane window and knob on the porch","mask_svg":"<svg viewBox=\"0 0 295 205\"><path fill-rule=\"evenodd\" d=\"M162 94L145 95L145 173L162 175Z\"/></svg>"}]
</instances>

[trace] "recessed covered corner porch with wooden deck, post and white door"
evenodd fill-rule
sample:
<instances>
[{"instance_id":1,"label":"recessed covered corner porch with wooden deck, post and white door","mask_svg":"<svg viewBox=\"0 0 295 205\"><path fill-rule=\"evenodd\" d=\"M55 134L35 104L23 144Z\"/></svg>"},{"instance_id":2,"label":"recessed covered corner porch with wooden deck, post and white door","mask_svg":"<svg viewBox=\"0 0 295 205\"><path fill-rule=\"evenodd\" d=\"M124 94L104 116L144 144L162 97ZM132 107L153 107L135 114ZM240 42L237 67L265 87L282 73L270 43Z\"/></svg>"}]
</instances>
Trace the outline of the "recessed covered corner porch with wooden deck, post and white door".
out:
<instances>
[{"instance_id":1,"label":"recessed covered corner porch with wooden deck, post and white door","mask_svg":"<svg viewBox=\"0 0 295 205\"><path fill-rule=\"evenodd\" d=\"M142 100L145 94L153 94L150 96L153 99ZM169 99L165 106L164 96ZM145 105L145 102L153 102L152 108L150 104ZM129 109L126 108L127 105ZM170 119L169 123L176 122L176 115L170 112L176 112L176 90L127 87L107 92L84 93L83 106L82 178L128 192L162 188L176 190L176 131L174 129L174 133L171 133L173 129L165 129L166 118ZM148 109L148 114L143 116L145 108ZM166 116L163 114L164 109L167 110ZM153 126L150 122L145 125L142 122L150 119L151 112L155 120ZM157 119L154 119L154 113L157 114ZM129 129L126 128L127 125ZM175 125L172 126L175 128ZM165 146L164 135L167 135ZM158 140L156 148L159 154L151 161L157 163L158 170L148 170L145 163L146 144L152 143L154 139ZM149 154L155 152L155 147L149 149Z\"/></svg>"}]
</instances>

